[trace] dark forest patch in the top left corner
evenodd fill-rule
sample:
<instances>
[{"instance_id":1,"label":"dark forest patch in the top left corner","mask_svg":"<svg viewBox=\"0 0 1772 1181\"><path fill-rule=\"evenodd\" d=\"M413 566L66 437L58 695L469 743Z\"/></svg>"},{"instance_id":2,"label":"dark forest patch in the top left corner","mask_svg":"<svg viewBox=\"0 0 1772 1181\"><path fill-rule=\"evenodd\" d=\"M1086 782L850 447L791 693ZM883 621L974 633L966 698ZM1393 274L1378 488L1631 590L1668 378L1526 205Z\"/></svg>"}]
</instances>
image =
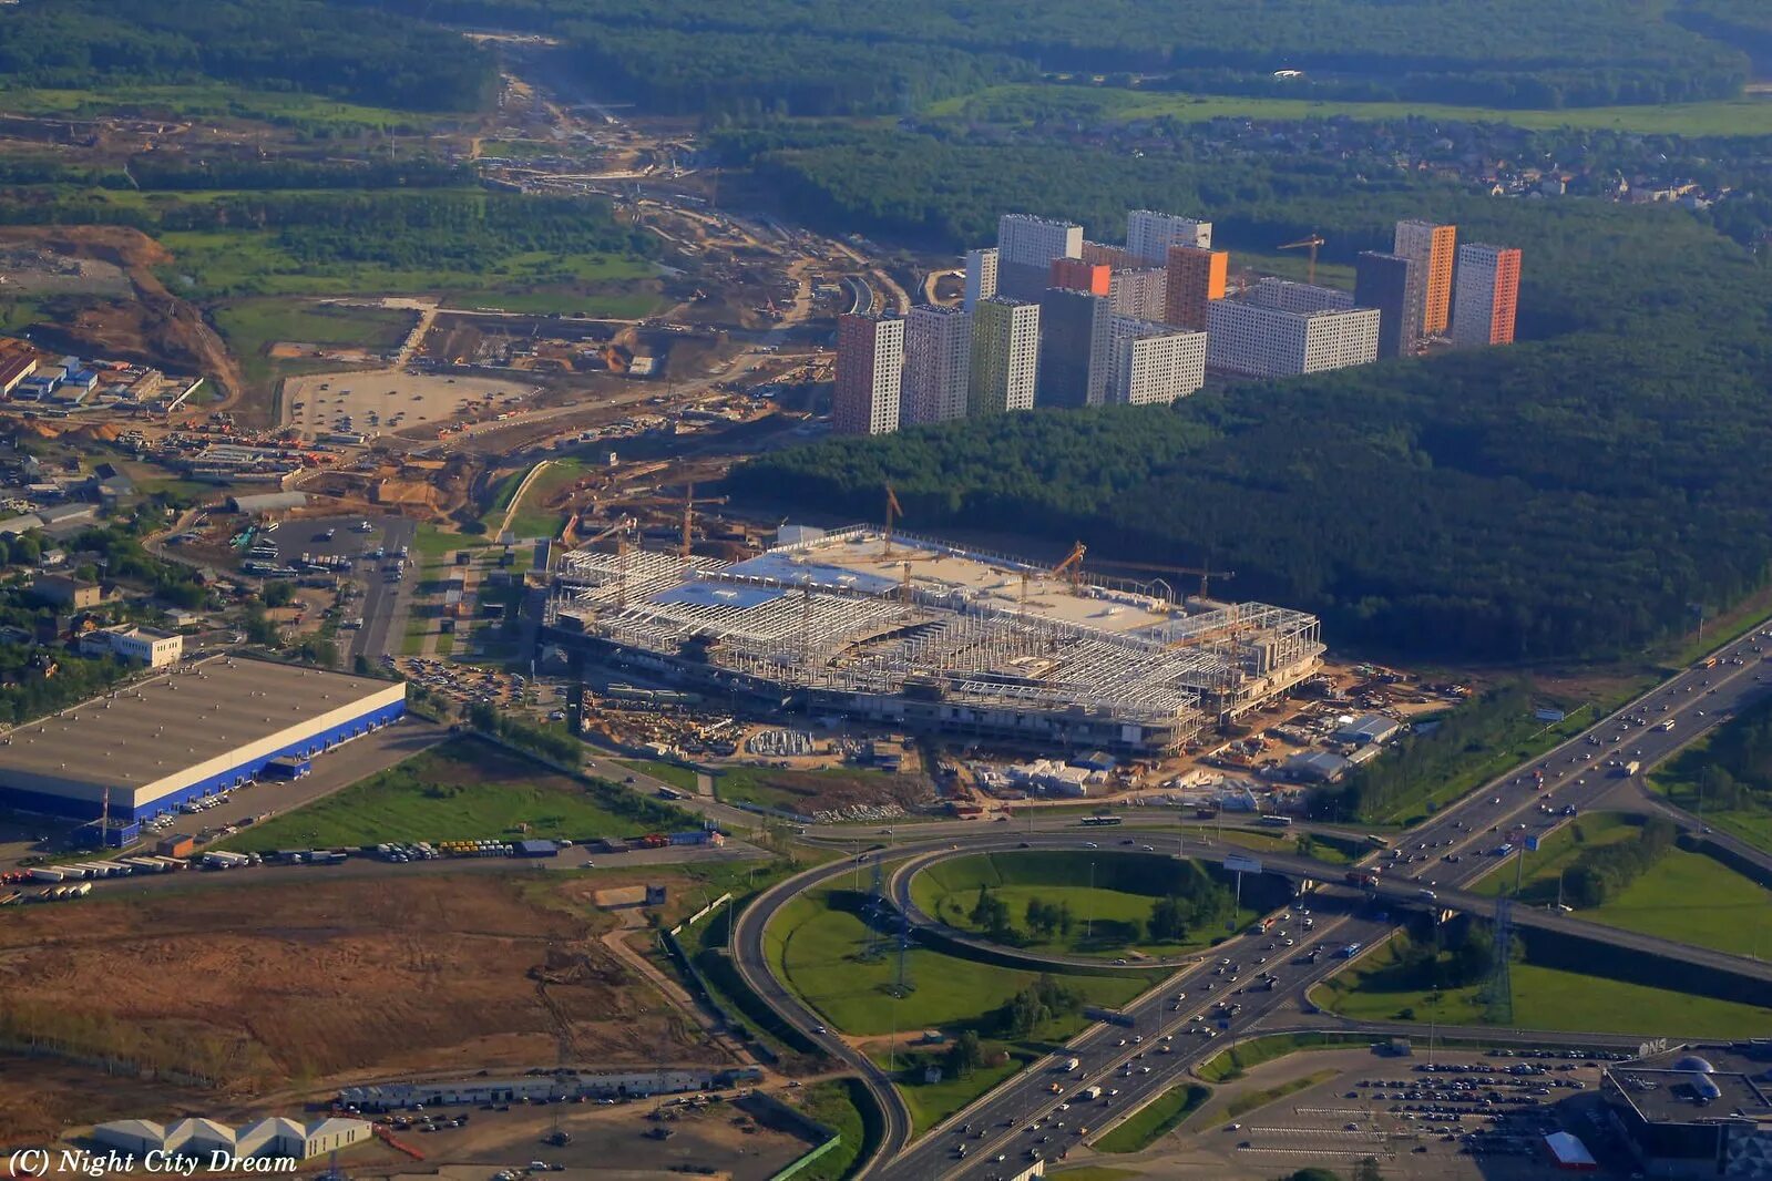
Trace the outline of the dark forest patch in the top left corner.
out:
<instances>
[{"instance_id":1,"label":"dark forest patch in the top left corner","mask_svg":"<svg viewBox=\"0 0 1772 1181\"><path fill-rule=\"evenodd\" d=\"M323 0L58 0L0 7L9 87L227 81L372 106L466 112L496 92L493 55L424 19Z\"/></svg>"}]
</instances>

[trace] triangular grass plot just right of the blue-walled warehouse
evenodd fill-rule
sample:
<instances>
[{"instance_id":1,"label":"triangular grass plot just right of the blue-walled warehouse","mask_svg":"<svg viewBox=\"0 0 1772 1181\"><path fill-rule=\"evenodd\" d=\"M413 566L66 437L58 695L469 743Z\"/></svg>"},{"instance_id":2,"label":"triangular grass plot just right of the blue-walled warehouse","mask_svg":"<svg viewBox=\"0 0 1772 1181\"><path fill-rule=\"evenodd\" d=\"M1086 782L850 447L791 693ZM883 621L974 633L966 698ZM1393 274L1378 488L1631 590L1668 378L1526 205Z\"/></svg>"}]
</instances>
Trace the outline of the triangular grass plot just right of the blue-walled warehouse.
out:
<instances>
[{"instance_id":1,"label":"triangular grass plot just right of the blue-walled warehouse","mask_svg":"<svg viewBox=\"0 0 1772 1181\"><path fill-rule=\"evenodd\" d=\"M620 797L610 791L610 799ZM517 832L517 825L528 825ZM581 784L480 742L448 742L216 848L268 852L381 841L624 836L649 830Z\"/></svg>"}]
</instances>

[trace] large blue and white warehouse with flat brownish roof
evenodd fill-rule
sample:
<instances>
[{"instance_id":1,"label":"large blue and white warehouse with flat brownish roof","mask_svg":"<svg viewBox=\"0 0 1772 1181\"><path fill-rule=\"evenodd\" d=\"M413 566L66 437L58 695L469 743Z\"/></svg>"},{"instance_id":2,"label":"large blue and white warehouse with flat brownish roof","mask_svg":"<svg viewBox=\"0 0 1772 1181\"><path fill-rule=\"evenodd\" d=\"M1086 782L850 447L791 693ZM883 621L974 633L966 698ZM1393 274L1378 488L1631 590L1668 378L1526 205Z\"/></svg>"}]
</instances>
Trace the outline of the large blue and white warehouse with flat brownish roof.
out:
<instances>
[{"instance_id":1,"label":"large blue and white warehouse with flat brownish roof","mask_svg":"<svg viewBox=\"0 0 1772 1181\"><path fill-rule=\"evenodd\" d=\"M216 657L0 737L0 806L103 820L106 839L122 843L140 820L402 714L404 682Z\"/></svg>"}]
</instances>

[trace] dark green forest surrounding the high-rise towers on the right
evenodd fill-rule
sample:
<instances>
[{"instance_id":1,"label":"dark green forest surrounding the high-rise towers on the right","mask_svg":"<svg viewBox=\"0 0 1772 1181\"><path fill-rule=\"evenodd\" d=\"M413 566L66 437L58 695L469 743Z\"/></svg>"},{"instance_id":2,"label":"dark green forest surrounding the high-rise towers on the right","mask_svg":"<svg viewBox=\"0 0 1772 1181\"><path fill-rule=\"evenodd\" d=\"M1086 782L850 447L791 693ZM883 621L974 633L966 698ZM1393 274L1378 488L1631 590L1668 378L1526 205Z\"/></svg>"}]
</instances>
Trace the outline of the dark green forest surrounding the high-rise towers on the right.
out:
<instances>
[{"instance_id":1,"label":"dark green forest surrounding the high-rise towers on the right","mask_svg":"<svg viewBox=\"0 0 1772 1181\"><path fill-rule=\"evenodd\" d=\"M1145 202L1210 216L1233 253L1315 228L1329 257L1350 259L1386 244L1396 218L1457 221L1462 241L1524 250L1522 343L1175 407L831 439L741 467L739 494L872 519L891 482L914 528L1210 561L1237 570L1239 595L1322 613L1331 643L1418 657L1634 652L1687 625L1692 604L1767 579L1772 271L1683 211L1363 188L1324 175L1334 165L1189 168L930 140L920 161L898 147L760 159L813 216L851 211L955 244L989 241L1008 209L1076 216L1111 239Z\"/></svg>"}]
</instances>

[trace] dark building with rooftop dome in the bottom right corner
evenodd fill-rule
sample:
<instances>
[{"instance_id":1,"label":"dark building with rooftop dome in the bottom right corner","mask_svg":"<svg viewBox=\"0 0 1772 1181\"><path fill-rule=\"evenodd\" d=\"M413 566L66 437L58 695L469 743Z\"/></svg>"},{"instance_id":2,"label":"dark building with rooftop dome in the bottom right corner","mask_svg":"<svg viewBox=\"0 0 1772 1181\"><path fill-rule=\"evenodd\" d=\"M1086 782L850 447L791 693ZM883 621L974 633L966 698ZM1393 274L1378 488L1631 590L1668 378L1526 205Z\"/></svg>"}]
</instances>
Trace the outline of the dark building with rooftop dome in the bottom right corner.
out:
<instances>
[{"instance_id":1,"label":"dark building with rooftop dome in the bottom right corner","mask_svg":"<svg viewBox=\"0 0 1772 1181\"><path fill-rule=\"evenodd\" d=\"M1652 1177L1772 1177L1772 1045L1694 1045L1614 1062L1600 1096Z\"/></svg>"}]
</instances>

